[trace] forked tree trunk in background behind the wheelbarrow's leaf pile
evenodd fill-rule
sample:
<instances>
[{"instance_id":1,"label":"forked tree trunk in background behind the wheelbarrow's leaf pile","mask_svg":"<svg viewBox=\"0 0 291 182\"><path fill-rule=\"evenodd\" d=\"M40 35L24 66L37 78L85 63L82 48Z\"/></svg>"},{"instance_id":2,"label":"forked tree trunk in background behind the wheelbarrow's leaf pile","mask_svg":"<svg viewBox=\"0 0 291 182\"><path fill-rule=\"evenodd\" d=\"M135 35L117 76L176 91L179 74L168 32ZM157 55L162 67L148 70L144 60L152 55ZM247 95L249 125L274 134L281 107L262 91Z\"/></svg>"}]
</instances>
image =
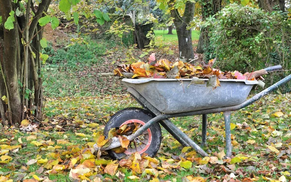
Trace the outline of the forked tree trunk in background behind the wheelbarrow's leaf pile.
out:
<instances>
[{"instance_id":1,"label":"forked tree trunk in background behind the wheelbarrow's leaf pile","mask_svg":"<svg viewBox=\"0 0 291 182\"><path fill-rule=\"evenodd\" d=\"M192 31L187 30L187 26L194 17L195 4L187 1L185 3L185 11L183 17L178 13L178 9L174 6L174 0L168 2L171 8L171 16L174 17L174 24L178 35L179 56L184 57L187 62L194 59L194 50L192 46Z\"/></svg>"}]
</instances>

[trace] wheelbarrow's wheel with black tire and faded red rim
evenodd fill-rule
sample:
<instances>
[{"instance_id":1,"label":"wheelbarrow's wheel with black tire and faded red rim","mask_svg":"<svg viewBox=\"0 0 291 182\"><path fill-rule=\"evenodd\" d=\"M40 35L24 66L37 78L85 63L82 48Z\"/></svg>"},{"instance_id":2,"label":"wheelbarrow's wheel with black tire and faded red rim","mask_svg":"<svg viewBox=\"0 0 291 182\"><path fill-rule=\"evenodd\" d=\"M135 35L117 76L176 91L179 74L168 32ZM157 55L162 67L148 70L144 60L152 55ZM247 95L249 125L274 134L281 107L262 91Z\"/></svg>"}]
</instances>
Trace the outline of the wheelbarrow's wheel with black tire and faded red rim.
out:
<instances>
[{"instance_id":1,"label":"wheelbarrow's wheel with black tire and faded red rim","mask_svg":"<svg viewBox=\"0 0 291 182\"><path fill-rule=\"evenodd\" d=\"M114 114L104 129L104 135L107 138L108 133L112 128L119 129L123 125L127 124L131 128L136 128L136 126L141 127L146 124L153 116L151 113L147 112L141 108L126 108L118 111ZM133 131L134 132L134 131ZM127 132L125 135L130 135L132 132ZM129 143L129 147L123 153L115 153L113 150L107 150L109 155L113 159L122 159L130 156L134 152L139 152L140 154L147 154L153 157L158 152L162 141L162 131L159 123L155 123L139 137L135 138Z\"/></svg>"}]
</instances>

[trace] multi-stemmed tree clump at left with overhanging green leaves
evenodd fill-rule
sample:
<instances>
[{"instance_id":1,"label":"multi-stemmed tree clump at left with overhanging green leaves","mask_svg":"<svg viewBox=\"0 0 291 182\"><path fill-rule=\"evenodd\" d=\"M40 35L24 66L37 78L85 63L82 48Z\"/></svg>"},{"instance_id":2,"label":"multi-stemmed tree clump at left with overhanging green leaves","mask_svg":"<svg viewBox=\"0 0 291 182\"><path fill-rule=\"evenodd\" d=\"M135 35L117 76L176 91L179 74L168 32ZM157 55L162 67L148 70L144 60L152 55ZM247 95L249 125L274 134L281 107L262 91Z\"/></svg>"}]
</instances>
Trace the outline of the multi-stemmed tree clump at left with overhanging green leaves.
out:
<instances>
[{"instance_id":1,"label":"multi-stemmed tree clump at left with overhanging green leaves","mask_svg":"<svg viewBox=\"0 0 291 182\"><path fill-rule=\"evenodd\" d=\"M43 37L44 26L59 26L55 12L48 12L52 0L0 0L0 115L4 124L20 123L31 117L41 119L43 108L42 64L48 55L42 54L47 40ZM81 11L86 18L96 17L99 24L109 21L108 14L99 10L85 12L86 2L58 0L57 12L67 19L73 15L79 22ZM76 6L78 3L79 8ZM74 13L71 10L74 9Z\"/></svg>"}]
</instances>

